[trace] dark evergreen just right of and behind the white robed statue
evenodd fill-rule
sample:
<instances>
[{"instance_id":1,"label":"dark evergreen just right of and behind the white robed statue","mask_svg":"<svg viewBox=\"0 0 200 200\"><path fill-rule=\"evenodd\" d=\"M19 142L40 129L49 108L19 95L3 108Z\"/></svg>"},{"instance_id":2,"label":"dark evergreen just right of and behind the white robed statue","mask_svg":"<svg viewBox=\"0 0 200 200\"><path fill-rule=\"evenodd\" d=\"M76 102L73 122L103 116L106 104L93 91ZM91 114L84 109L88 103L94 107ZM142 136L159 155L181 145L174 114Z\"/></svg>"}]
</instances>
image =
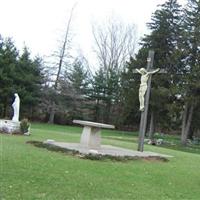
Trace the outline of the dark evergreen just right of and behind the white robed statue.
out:
<instances>
[{"instance_id":1,"label":"dark evergreen just right of and behind the white robed statue","mask_svg":"<svg viewBox=\"0 0 200 200\"><path fill-rule=\"evenodd\" d=\"M27 47L24 47L18 59L14 87L23 105L21 106L22 116L34 117L34 109L40 102L42 79L42 59L36 57L32 60Z\"/></svg>"}]
</instances>

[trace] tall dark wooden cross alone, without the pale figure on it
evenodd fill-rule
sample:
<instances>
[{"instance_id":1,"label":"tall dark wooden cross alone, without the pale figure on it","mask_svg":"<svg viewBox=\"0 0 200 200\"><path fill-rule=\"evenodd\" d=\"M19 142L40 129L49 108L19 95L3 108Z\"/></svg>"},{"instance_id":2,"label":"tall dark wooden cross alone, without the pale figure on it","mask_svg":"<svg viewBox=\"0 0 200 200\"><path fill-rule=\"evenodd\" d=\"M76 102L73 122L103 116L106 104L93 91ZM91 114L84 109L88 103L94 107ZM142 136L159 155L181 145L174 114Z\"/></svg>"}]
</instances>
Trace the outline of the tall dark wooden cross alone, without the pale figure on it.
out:
<instances>
[{"instance_id":1,"label":"tall dark wooden cross alone, without the pale figure on it","mask_svg":"<svg viewBox=\"0 0 200 200\"><path fill-rule=\"evenodd\" d=\"M147 72L151 72L153 67L153 60L154 60L154 51L150 50L149 55L147 58ZM163 73L163 70L160 70L159 73ZM165 72L164 72L165 73ZM144 137L147 127L147 116L148 116L148 108L149 108L149 98L150 98L150 91L151 91L151 78L150 75L147 82L147 91L145 94L144 99L144 110L141 111L141 119L140 119L140 130L139 130L139 140L138 140L138 151L143 152L144 149Z\"/></svg>"}]
</instances>

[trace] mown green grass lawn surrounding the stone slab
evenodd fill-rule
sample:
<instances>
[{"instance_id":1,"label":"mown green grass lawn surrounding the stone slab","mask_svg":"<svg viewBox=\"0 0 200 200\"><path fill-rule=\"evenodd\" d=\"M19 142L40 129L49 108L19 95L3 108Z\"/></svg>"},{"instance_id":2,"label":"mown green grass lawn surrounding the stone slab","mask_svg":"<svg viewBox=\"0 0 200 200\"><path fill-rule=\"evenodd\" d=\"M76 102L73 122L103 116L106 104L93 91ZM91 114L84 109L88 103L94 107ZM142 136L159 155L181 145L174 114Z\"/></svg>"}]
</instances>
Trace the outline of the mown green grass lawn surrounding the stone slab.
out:
<instances>
[{"instance_id":1,"label":"mown green grass lawn surrounding the stone slab","mask_svg":"<svg viewBox=\"0 0 200 200\"><path fill-rule=\"evenodd\" d=\"M146 145L169 162L92 161L26 144L79 142L81 128L33 124L32 135L0 134L0 199L200 199L200 155ZM136 150L136 134L103 131L103 144Z\"/></svg>"}]
</instances>

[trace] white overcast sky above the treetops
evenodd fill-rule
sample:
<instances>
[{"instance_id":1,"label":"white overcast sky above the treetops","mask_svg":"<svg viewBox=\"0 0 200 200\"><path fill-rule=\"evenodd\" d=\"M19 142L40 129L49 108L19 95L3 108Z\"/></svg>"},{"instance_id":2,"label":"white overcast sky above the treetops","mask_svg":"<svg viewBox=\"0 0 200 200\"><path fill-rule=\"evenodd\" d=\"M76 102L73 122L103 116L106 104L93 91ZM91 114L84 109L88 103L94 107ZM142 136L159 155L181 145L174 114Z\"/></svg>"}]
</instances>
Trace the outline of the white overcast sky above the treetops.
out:
<instances>
[{"instance_id":1,"label":"white overcast sky above the treetops","mask_svg":"<svg viewBox=\"0 0 200 200\"><path fill-rule=\"evenodd\" d=\"M165 0L0 0L0 34L12 37L20 50L25 44L33 55L49 56L58 45L75 2L74 46L87 57L91 52L93 21L100 23L117 15L136 24L140 37L147 31L146 23L156 6Z\"/></svg>"}]
</instances>

